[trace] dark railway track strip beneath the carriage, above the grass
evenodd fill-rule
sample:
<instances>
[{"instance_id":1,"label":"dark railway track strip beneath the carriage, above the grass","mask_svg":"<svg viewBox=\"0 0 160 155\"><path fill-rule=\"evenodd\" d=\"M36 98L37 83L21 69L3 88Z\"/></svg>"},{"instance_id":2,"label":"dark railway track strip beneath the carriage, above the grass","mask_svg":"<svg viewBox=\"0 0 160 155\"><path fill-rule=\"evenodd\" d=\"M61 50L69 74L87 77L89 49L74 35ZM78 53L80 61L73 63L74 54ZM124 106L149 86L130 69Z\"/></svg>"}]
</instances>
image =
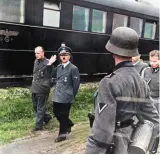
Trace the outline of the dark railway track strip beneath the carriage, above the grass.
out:
<instances>
[{"instance_id":1,"label":"dark railway track strip beneath the carriage, above the grass","mask_svg":"<svg viewBox=\"0 0 160 155\"><path fill-rule=\"evenodd\" d=\"M100 81L106 74L96 74L96 75L87 75L82 74L80 76L81 83L86 82L98 82ZM27 87L32 83L32 76L25 77L0 77L0 88L6 87Z\"/></svg>"}]
</instances>

